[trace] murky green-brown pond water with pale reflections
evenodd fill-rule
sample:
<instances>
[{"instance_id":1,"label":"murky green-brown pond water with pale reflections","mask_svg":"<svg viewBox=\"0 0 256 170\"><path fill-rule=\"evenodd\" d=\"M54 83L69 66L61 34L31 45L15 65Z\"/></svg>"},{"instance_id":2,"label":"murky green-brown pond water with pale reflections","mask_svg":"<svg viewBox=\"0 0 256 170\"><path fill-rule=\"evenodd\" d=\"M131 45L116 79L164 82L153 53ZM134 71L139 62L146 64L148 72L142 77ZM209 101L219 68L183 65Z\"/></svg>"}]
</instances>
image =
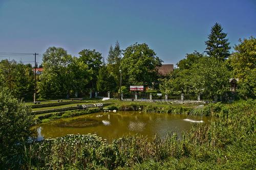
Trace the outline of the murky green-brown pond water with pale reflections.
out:
<instances>
[{"instance_id":1,"label":"murky green-brown pond water with pale reflections","mask_svg":"<svg viewBox=\"0 0 256 170\"><path fill-rule=\"evenodd\" d=\"M99 112L72 118L61 118L35 127L37 139L55 138L67 134L97 134L111 141L124 135L139 134L164 137L170 131L179 135L193 124L208 123L210 117L139 111Z\"/></svg>"}]
</instances>

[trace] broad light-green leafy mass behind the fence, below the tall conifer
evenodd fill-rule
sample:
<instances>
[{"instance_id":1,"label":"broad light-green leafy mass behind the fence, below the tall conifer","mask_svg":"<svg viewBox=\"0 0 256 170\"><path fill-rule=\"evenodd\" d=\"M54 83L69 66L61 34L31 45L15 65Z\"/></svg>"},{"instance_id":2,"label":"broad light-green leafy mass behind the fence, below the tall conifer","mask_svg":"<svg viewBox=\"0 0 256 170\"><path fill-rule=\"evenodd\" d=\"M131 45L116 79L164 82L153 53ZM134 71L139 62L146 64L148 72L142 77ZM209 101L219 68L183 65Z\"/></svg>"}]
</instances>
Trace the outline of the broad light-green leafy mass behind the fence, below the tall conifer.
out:
<instances>
[{"instance_id":1,"label":"broad light-green leafy mass behind the fence, below the tall conifer","mask_svg":"<svg viewBox=\"0 0 256 170\"><path fill-rule=\"evenodd\" d=\"M206 57L198 52L187 54L186 59L177 63L169 78L161 80L162 93L192 96L203 94L206 99L224 95L229 90L230 72L225 62Z\"/></svg>"}]
</instances>

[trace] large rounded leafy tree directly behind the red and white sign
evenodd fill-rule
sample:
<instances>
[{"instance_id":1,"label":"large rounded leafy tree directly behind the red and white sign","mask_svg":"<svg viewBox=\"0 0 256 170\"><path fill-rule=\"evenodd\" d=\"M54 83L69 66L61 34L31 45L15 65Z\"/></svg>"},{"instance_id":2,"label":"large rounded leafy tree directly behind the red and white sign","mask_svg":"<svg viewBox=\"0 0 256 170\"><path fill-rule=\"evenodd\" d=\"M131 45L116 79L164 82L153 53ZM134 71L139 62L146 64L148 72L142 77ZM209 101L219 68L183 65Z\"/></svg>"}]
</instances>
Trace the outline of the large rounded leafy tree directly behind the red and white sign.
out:
<instances>
[{"instance_id":1,"label":"large rounded leafy tree directly behind the red and white sign","mask_svg":"<svg viewBox=\"0 0 256 170\"><path fill-rule=\"evenodd\" d=\"M121 69L124 85L148 85L159 78L158 67L162 64L147 44L135 43L124 50Z\"/></svg>"}]
</instances>

